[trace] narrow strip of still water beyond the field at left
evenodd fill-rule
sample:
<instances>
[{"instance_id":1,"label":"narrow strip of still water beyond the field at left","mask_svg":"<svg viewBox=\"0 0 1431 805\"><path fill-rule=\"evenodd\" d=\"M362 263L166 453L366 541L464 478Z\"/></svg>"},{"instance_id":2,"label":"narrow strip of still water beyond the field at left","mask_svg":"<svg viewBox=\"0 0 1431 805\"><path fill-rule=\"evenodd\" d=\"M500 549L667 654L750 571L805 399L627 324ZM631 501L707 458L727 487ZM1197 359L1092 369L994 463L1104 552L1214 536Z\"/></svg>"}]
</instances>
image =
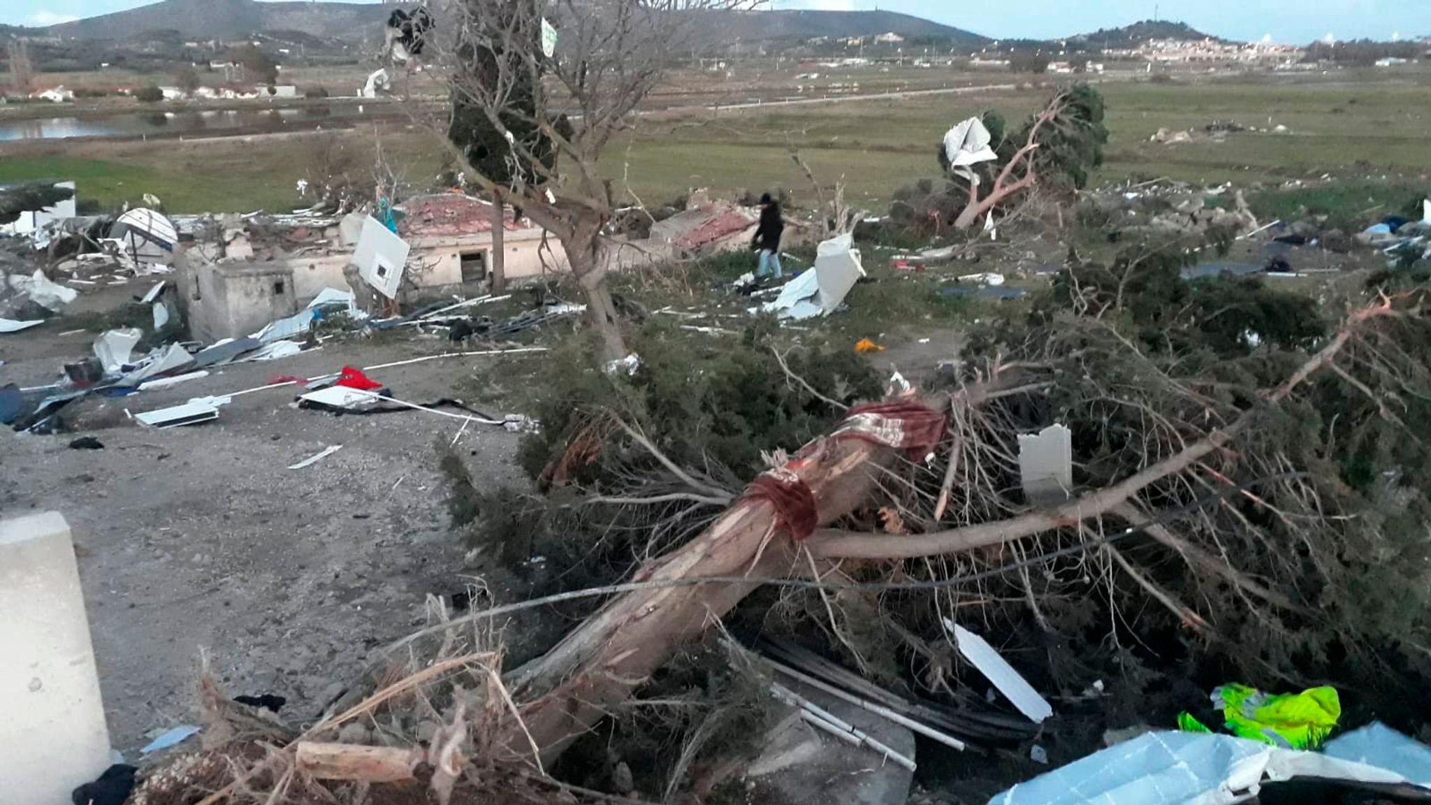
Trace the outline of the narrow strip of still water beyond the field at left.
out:
<instances>
[{"instance_id":1,"label":"narrow strip of still water beyond the field at left","mask_svg":"<svg viewBox=\"0 0 1431 805\"><path fill-rule=\"evenodd\" d=\"M126 112L123 115L37 117L6 120L0 116L0 142L63 140L74 138L193 136L216 138L249 132L303 132L348 127L376 119L381 107L345 103L290 109L225 109L189 112Z\"/></svg>"}]
</instances>

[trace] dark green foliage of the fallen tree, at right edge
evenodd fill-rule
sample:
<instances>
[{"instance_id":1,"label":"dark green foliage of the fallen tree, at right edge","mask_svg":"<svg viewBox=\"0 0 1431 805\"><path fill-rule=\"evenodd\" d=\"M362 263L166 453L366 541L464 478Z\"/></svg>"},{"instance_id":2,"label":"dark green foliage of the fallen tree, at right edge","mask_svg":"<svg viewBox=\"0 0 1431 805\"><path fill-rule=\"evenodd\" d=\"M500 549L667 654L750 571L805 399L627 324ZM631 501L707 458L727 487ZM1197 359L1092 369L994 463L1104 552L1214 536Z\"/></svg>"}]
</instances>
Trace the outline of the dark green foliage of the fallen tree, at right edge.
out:
<instances>
[{"instance_id":1,"label":"dark green foliage of the fallen tree, at right edge","mask_svg":"<svg viewBox=\"0 0 1431 805\"><path fill-rule=\"evenodd\" d=\"M1139 643L1159 646L1159 666L1169 659L1163 646L1176 646L1189 666L1225 669L1212 673L1259 686L1355 683L1368 698L1378 686L1424 686L1431 663L1400 650L1431 635L1424 526L1431 517L1431 447L1412 430L1431 417L1431 322L1421 312L1431 291L1424 278L1391 278L1397 315L1358 324L1337 354L1337 371L1318 371L1269 404L1272 390L1328 345L1342 311L1379 297L1314 301L1255 278L1183 281L1183 264L1181 251L1145 249L1119 255L1112 266L1076 265L1026 321L975 334L966 357L1050 361L1053 387L1006 414L1020 433L1068 425L1075 480L1086 488L1125 480L1251 417L1216 454L1139 498L1169 511L1213 488L1255 484L1255 494L1176 517L1171 531L1296 604L1269 606L1196 561L1171 560L1176 553L1166 546L1128 540L1120 550L1129 561L1213 623L1219 636L1191 639L1179 617L1143 610L1132 632ZM1276 478L1289 471L1301 476ZM1060 596L1098 597L1073 584L1045 600ZM1142 606L1138 586L1118 597L1122 612ZM1072 623L1050 609L1052 623ZM1073 629L1092 637L1108 616L1092 613Z\"/></svg>"}]
</instances>

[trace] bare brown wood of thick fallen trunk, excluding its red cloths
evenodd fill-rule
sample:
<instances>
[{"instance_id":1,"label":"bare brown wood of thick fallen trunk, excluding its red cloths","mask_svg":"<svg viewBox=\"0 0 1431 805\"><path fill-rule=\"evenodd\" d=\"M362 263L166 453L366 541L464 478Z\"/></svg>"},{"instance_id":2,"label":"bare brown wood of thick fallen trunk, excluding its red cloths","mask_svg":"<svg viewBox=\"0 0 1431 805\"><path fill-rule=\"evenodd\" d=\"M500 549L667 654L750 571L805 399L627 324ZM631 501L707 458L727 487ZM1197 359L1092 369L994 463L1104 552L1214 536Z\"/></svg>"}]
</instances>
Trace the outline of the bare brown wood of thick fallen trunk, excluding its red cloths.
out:
<instances>
[{"instance_id":1,"label":"bare brown wood of thick fallen trunk, excluding its red cloths","mask_svg":"<svg viewBox=\"0 0 1431 805\"><path fill-rule=\"evenodd\" d=\"M821 440L787 467L814 493L821 524L861 506L873 491L871 470L893 461L896 450L860 440ZM790 573L790 537L777 526L776 507L764 500L737 503L698 537L657 560L637 582ZM671 656L697 637L758 584L713 584L638 590L587 619L551 652L517 675L518 699L529 702L522 719L541 748L555 758L605 718ZM545 688L545 689L544 689ZM505 745L529 753L519 725L509 725Z\"/></svg>"}]
</instances>

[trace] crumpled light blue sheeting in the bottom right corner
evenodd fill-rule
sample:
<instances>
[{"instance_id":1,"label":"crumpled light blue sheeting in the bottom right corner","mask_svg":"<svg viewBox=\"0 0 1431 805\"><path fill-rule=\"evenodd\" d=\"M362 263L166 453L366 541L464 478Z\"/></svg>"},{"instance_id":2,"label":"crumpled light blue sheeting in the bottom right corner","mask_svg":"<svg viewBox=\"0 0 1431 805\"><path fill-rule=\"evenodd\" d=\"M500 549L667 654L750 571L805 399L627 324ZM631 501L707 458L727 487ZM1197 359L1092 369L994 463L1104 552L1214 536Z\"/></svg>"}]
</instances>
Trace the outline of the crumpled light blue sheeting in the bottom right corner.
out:
<instances>
[{"instance_id":1,"label":"crumpled light blue sheeting in the bottom right corner","mask_svg":"<svg viewBox=\"0 0 1431 805\"><path fill-rule=\"evenodd\" d=\"M1387 752L1408 751L1404 742L1415 743L1405 736L1397 738L1401 741L1377 732L1352 742L1347 753L1367 758L1364 763L1335 755L1344 739L1329 742L1327 753L1318 753L1231 735L1149 732L1019 784L989 805L1231 805L1255 795L1264 782L1299 776L1418 785L1405 771L1392 768L1404 755L1390 758L1388 763ZM1425 746L1420 749L1427 751ZM1420 769L1418 773L1427 771L1421 758L1404 762Z\"/></svg>"}]
</instances>

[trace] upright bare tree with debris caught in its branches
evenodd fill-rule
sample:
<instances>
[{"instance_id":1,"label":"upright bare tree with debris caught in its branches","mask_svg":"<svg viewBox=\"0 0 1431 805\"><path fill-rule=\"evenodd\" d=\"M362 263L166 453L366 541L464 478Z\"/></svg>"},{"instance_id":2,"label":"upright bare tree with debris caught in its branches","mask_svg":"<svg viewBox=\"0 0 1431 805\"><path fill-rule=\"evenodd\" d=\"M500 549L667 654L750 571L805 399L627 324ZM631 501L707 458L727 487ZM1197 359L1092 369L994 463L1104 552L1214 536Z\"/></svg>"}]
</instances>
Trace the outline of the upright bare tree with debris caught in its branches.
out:
<instances>
[{"instance_id":1,"label":"upright bare tree with debris caught in its branches","mask_svg":"<svg viewBox=\"0 0 1431 805\"><path fill-rule=\"evenodd\" d=\"M610 358L627 355L605 276L617 201L601 155L711 14L764 0L456 0L436 43L468 180L562 245ZM555 40L555 42L554 42Z\"/></svg>"}]
</instances>

